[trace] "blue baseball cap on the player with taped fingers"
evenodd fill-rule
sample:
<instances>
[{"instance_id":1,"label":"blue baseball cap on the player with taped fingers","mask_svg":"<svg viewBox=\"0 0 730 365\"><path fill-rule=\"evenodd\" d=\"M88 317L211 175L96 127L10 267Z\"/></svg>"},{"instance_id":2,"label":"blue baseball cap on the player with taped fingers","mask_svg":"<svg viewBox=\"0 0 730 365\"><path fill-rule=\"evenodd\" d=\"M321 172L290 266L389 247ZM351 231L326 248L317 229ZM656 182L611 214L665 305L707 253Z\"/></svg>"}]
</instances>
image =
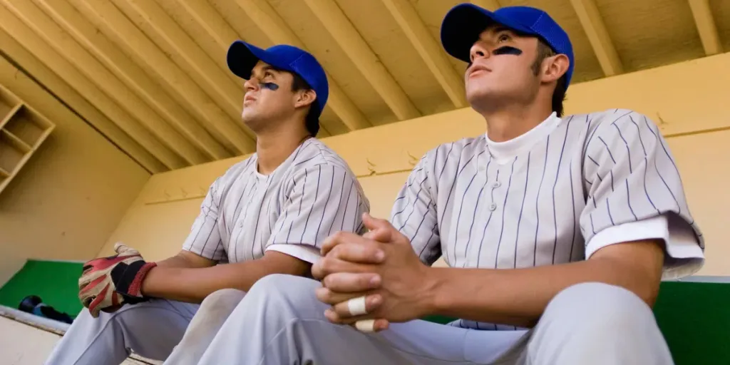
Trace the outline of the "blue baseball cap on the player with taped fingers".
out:
<instances>
[{"instance_id":1,"label":"blue baseball cap on the player with taped fingers","mask_svg":"<svg viewBox=\"0 0 730 365\"><path fill-rule=\"evenodd\" d=\"M566 86L570 84L575 68L570 38L547 12L534 7L502 7L491 12L474 4L456 5L446 13L441 23L441 44L448 54L470 62L469 50L485 28L493 23L519 34L539 37L556 53L568 56L570 66L565 73Z\"/></svg>"}]
</instances>

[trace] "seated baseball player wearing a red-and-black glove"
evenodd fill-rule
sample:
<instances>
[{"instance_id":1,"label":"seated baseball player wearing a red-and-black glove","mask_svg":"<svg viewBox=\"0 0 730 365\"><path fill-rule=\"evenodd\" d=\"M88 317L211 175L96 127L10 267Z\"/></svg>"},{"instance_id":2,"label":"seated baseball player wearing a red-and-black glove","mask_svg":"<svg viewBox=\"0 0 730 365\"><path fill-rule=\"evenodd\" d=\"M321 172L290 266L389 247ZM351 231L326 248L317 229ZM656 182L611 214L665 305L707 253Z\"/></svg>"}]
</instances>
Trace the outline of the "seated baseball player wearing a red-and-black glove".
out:
<instances>
[{"instance_id":1,"label":"seated baseball player wearing a red-and-black glove","mask_svg":"<svg viewBox=\"0 0 730 365\"><path fill-rule=\"evenodd\" d=\"M308 276L323 239L363 231L369 201L356 176L315 139L328 96L318 61L296 47L241 41L227 58L246 80L242 120L256 153L215 180L177 255L147 262L117 245L117 255L85 264L79 296L88 310L47 364L120 364L130 350L164 360L181 339L172 363L193 361L196 343L212 339L256 280Z\"/></svg>"}]
</instances>

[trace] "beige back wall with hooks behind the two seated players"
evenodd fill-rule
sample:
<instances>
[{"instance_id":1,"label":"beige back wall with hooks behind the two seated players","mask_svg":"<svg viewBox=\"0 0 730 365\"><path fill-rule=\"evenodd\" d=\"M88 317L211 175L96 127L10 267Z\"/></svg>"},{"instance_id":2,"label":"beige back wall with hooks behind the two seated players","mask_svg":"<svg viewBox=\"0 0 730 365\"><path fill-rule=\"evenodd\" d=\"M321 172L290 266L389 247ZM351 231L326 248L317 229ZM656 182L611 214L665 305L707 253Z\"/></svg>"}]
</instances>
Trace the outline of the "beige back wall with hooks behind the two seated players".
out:
<instances>
[{"instance_id":1,"label":"beige back wall with hooks behind the two seated players","mask_svg":"<svg viewBox=\"0 0 730 365\"><path fill-rule=\"evenodd\" d=\"M723 230L729 215L722 209L730 205L730 193L723 186L730 179L730 144L726 142L730 131L723 131L730 127L728 64L730 53L725 53L585 82L569 89L566 102L569 113L631 108L660 124L683 175L691 210L707 239L707 265L700 274L730 274L730 247L724 243L729 234ZM483 119L464 109L329 137L324 142L361 176L373 214L386 217L414 162L410 155L419 158L439 143L484 130ZM176 252L198 214L207 186L241 160L231 158L156 174L102 252L109 253L118 240L137 247L152 260ZM699 162L712 164L711 172L701 173ZM369 169L379 175L366 176Z\"/></svg>"}]
</instances>

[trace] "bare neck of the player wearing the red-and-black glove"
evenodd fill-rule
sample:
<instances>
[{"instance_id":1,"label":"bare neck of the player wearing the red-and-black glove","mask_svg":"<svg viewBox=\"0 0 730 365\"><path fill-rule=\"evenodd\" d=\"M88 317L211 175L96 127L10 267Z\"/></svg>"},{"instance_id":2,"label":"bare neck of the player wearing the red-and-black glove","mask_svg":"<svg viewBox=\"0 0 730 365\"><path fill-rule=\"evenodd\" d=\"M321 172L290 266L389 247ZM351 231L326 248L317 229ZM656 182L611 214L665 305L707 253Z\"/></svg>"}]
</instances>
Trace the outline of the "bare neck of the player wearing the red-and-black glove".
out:
<instances>
[{"instance_id":1,"label":"bare neck of the player wearing the red-and-black glove","mask_svg":"<svg viewBox=\"0 0 730 365\"><path fill-rule=\"evenodd\" d=\"M271 174L310 135L300 128L280 128L277 131L256 135L258 172Z\"/></svg>"}]
</instances>

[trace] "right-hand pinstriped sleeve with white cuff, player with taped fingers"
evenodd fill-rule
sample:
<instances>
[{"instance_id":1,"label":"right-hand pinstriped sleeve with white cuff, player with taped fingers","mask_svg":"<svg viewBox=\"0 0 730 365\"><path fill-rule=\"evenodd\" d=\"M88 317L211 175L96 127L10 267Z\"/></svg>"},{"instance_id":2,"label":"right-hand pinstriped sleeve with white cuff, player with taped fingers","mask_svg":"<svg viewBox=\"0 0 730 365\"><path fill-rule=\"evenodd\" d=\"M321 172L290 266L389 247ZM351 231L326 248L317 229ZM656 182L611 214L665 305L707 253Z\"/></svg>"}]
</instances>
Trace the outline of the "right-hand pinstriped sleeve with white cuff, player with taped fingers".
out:
<instances>
[{"instance_id":1,"label":"right-hand pinstriped sleeve with white cuff, player with taped fingers","mask_svg":"<svg viewBox=\"0 0 730 365\"><path fill-rule=\"evenodd\" d=\"M615 243L664 239L664 278L696 272L704 264L704 239L656 124L630 110L600 118L583 161L585 257Z\"/></svg>"}]
</instances>

